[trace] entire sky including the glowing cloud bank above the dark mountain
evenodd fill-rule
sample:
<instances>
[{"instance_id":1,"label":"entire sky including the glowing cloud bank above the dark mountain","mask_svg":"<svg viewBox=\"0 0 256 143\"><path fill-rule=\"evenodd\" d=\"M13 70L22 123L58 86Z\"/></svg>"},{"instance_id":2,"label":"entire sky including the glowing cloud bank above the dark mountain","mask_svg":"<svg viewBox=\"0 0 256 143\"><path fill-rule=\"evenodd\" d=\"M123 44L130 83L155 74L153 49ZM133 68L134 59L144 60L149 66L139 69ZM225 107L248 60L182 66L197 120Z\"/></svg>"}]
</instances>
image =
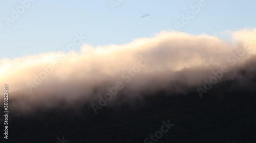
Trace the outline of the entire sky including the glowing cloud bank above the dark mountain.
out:
<instances>
[{"instance_id":1,"label":"entire sky including the glowing cloud bank above the dark mountain","mask_svg":"<svg viewBox=\"0 0 256 143\"><path fill-rule=\"evenodd\" d=\"M252 3L21 0L0 6L0 84L13 97L44 104L54 95L75 103L97 102L113 87L131 97L159 90L202 97L208 81L256 87Z\"/></svg>"}]
</instances>

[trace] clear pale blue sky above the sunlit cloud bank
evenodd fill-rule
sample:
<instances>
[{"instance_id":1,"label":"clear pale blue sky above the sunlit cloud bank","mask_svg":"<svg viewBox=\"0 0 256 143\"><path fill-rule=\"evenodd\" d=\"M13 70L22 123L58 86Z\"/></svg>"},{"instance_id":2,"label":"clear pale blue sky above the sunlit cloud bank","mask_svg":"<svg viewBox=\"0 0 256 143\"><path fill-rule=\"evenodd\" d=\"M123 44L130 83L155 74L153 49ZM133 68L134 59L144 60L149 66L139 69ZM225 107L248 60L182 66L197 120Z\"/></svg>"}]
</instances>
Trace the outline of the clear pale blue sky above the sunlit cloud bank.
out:
<instances>
[{"instance_id":1,"label":"clear pale blue sky above the sunlit cloud bank","mask_svg":"<svg viewBox=\"0 0 256 143\"><path fill-rule=\"evenodd\" d=\"M20 1L0 2L0 59L13 59L59 51L79 33L87 37L84 43L98 46L125 44L161 31L176 30L175 21L180 22L181 15L190 11L189 6L198 5L199 0L124 0L114 11L109 0L36 0L9 27L4 18L11 18L11 9L22 5ZM224 31L255 26L255 1L205 0L205 3L181 32L221 37ZM151 16L140 18L144 13Z\"/></svg>"}]
</instances>

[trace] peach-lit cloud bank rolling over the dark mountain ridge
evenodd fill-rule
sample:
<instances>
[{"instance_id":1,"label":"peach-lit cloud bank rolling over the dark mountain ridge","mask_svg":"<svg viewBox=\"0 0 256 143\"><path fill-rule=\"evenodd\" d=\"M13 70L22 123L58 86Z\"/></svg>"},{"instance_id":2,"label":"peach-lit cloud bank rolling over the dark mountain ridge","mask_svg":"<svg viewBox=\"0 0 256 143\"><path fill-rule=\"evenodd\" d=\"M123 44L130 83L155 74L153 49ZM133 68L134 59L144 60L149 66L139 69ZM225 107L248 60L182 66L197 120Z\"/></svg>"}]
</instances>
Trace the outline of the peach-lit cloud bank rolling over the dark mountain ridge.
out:
<instances>
[{"instance_id":1,"label":"peach-lit cloud bank rolling over the dark mountain ridge","mask_svg":"<svg viewBox=\"0 0 256 143\"><path fill-rule=\"evenodd\" d=\"M56 51L2 59L0 84L9 85L13 106L19 109L22 106L25 110L30 110L32 104L54 106L56 101L50 99L67 103L94 102L118 81L124 85L118 96L140 96L141 92L152 93L159 89L187 93L203 86L203 80L223 65L229 67L230 72L219 82L238 78L241 68L253 76L248 64L255 59L256 29L231 35L231 41L223 41L209 35L161 32L153 38L140 38L123 45L93 47L84 44L81 53ZM250 49L247 48L234 64L233 53L245 47ZM152 60L135 76L130 75L131 81L127 82L127 70L138 65L141 56ZM34 81L42 72L47 73L46 78L37 85ZM126 78L123 78L125 72ZM32 93L28 83L36 85Z\"/></svg>"}]
</instances>

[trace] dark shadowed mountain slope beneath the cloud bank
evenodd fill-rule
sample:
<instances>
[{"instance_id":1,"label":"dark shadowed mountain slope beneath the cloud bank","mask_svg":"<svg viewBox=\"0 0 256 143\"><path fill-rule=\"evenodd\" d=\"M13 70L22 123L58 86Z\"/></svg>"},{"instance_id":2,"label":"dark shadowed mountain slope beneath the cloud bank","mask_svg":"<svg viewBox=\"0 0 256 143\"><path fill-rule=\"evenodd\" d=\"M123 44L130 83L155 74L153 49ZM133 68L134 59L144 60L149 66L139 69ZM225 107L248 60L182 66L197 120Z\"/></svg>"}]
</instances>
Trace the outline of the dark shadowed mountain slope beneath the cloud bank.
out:
<instances>
[{"instance_id":1,"label":"dark shadowed mountain slope beneath the cloud bank","mask_svg":"<svg viewBox=\"0 0 256 143\"><path fill-rule=\"evenodd\" d=\"M135 99L134 105L104 107L97 115L89 104L81 111L58 108L29 116L10 113L9 139L1 142L55 143L57 137L66 142L144 142L167 120L175 125L158 142L256 142L255 93L215 94L170 97L159 92L143 103Z\"/></svg>"}]
</instances>

